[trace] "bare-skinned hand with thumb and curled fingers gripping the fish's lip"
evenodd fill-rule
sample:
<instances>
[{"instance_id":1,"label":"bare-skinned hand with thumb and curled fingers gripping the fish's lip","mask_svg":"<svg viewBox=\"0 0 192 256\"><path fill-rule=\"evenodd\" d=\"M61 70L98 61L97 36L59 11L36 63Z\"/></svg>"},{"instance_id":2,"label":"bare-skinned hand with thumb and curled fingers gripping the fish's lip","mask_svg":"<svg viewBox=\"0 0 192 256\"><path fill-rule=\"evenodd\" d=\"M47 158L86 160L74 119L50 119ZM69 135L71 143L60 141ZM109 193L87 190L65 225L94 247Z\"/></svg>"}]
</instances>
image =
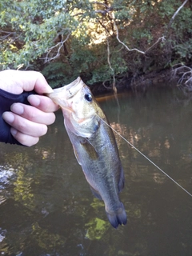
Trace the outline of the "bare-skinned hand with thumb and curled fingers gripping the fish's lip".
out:
<instances>
[{"instance_id":1,"label":"bare-skinned hand with thumb and curled fingers gripping the fish's lip","mask_svg":"<svg viewBox=\"0 0 192 256\"><path fill-rule=\"evenodd\" d=\"M37 93L27 98L31 106L17 102L10 106L10 111L2 114L2 118L11 126L13 137L22 145L33 146L39 137L46 134L47 125L55 120L53 112L58 110L50 98L38 94L51 93L53 90L41 73L19 70L1 71L0 88L11 94L31 90Z\"/></svg>"}]
</instances>

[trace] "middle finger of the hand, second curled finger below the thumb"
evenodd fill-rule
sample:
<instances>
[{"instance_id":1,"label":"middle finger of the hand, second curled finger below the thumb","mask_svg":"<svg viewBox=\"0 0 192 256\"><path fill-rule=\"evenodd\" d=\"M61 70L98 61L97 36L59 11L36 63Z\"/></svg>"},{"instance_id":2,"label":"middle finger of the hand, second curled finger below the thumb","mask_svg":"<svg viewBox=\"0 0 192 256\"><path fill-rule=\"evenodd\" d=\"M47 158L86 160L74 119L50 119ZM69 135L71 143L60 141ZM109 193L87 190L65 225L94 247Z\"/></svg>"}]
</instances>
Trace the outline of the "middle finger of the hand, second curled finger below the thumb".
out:
<instances>
[{"instance_id":1,"label":"middle finger of the hand, second curled finger below the thumb","mask_svg":"<svg viewBox=\"0 0 192 256\"><path fill-rule=\"evenodd\" d=\"M26 118L32 122L37 122L44 125L51 125L55 121L54 113L46 113L42 110L38 110L34 106L25 105L22 103L14 103L10 106L10 110L14 114L20 115L22 118Z\"/></svg>"}]
</instances>

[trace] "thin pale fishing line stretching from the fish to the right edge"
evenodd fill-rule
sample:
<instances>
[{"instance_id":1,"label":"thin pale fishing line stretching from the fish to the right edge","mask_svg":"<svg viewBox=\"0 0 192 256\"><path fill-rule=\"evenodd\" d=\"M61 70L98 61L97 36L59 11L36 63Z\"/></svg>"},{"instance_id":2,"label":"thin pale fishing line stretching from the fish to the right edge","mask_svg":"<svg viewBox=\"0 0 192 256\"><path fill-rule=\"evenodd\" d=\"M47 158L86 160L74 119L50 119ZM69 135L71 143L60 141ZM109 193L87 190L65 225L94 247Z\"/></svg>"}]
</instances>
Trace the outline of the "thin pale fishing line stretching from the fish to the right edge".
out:
<instances>
[{"instance_id":1,"label":"thin pale fishing line stretching from the fish to the right edge","mask_svg":"<svg viewBox=\"0 0 192 256\"><path fill-rule=\"evenodd\" d=\"M98 115L97 115L97 116L98 116ZM98 116L98 118L100 118L100 117ZM104 121L102 118L100 118L100 119L102 120L102 122L105 122L107 126L110 126L110 125L109 125L106 121ZM112 126L110 126L110 128L111 128L112 130L114 130L114 128L113 128ZM138 150L138 149L137 149L133 144L131 144L126 138L124 138L121 134L119 134L119 133L117 132L117 130L114 130L114 132L115 132L116 134L118 134L118 136L120 136L122 139L124 139L124 141L126 141L130 146L132 146L132 147L134 148L134 150L137 150L139 154L142 154L142 152L141 152L140 150ZM171 180L172 182L174 182L174 183L175 183L176 185L178 185L182 190L184 190L184 191L186 192L186 194L189 194L190 197L192 197L192 194L190 194L189 191L187 191L184 187L182 187L180 184L178 184L178 182L176 182L176 181L174 180L174 178L171 178L170 175L166 174L166 172L165 172L164 170L162 170L160 167L158 167L153 161L151 161L150 158L147 158L145 154L142 154L142 156L143 156L144 158L146 158L150 163L152 163L156 168L158 168L158 170L160 170L163 174L165 174L166 177L170 178L170 180Z\"/></svg>"}]
</instances>

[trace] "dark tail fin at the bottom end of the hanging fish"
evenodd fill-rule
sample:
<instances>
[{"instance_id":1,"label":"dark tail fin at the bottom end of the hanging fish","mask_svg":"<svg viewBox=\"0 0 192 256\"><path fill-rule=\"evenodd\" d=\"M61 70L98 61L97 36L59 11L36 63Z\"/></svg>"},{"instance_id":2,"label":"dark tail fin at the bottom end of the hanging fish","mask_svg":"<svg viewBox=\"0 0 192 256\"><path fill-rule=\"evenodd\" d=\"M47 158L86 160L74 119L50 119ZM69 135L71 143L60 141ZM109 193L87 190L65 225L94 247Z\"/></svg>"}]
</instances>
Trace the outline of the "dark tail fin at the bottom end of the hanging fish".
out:
<instances>
[{"instance_id":1,"label":"dark tail fin at the bottom end of the hanging fish","mask_svg":"<svg viewBox=\"0 0 192 256\"><path fill-rule=\"evenodd\" d=\"M110 221L110 224L116 229L118 225L126 225L126 210L121 203L121 207L118 208L118 210L114 212L106 212L106 216Z\"/></svg>"}]
</instances>

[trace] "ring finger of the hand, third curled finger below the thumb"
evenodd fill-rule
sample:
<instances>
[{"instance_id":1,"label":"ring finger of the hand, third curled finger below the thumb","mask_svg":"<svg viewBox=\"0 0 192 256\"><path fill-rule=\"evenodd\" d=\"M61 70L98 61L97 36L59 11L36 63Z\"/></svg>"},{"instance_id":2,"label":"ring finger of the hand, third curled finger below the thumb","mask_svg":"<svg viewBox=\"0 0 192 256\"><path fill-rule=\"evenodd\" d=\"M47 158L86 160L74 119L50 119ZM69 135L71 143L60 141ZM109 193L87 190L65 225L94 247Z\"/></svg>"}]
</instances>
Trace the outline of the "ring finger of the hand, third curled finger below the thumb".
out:
<instances>
[{"instance_id":1,"label":"ring finger of the hand, third curled finger below the thumb","mask_svg":"<svg viewBox=\"0 0 192 256\"><path fill-rule=\"evenodd\" d=\"M20 117L18 114L12 112L4 112L2 118L14 129L18 130L22 134L27 134L33 137L40 137L47 132L47 126L45 124L39 124Z\"/></svg>"}]
</instances>

